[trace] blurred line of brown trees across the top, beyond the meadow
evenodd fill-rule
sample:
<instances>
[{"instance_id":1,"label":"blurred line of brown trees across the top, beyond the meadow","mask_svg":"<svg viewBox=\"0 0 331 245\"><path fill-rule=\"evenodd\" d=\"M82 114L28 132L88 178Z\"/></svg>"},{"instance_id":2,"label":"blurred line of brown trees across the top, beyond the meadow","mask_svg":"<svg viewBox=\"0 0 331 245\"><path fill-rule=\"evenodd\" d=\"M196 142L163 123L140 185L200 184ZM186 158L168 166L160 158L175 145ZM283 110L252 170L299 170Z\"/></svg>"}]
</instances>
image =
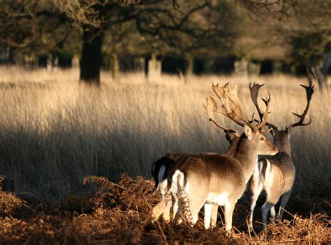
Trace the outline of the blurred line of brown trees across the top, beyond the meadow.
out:
<instances>
[{"instance_id":1,"label":"blurred line of brown trees across the top, beyond the meadow","mask_svg":"<svg viewBox=\"0 0 331 245\"><path fill-rule=\"evenodd\" d=\"M322 0L0 0L0 47L13 63L76 54L89 84L99 84L105 64L116 79L124 56L180 57L186 74L195 57L232 56L252 69L249 61L301 65L324 87L330 12Z\"/></svg>"}]
</instances>

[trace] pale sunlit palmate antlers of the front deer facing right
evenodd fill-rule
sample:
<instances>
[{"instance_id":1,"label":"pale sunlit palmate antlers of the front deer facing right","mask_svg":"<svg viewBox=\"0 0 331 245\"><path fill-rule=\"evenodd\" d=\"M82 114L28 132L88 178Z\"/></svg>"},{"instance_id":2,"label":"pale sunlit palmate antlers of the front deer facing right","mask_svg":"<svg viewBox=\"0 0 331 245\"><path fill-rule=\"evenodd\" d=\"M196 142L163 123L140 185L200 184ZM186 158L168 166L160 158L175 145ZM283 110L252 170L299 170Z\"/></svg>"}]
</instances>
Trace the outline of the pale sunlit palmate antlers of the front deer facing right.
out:
<instances>
[{"instance_id":1,"label":"pale sunlit palmate antlers of the front deer facing right","mask_svg":"<svg viewBox=\"0 0 331 245\"><path fill-rule=\"evenodd\" d=\"M264 127L265 122L267 122L270 98L265 100L266 110L262 113L262 119L258 125L253 125L252 122L247 120L244 113L242 113L242 105L237 95L237 86L230 88L230 86L226 84L219 88L218 84L213 84L212 90L213 92L210 93L209 97L206 99L205 109L210 118L209 120L214 122L217 127L221 127L226 130L226 127L219 125L219 123L216 122L214 117L215 112L222 113L242 127L244 127L244 125L248 125L251 129L253 129L253 131L256 132L260 131Z\"/></svg>"}]
</instances>

